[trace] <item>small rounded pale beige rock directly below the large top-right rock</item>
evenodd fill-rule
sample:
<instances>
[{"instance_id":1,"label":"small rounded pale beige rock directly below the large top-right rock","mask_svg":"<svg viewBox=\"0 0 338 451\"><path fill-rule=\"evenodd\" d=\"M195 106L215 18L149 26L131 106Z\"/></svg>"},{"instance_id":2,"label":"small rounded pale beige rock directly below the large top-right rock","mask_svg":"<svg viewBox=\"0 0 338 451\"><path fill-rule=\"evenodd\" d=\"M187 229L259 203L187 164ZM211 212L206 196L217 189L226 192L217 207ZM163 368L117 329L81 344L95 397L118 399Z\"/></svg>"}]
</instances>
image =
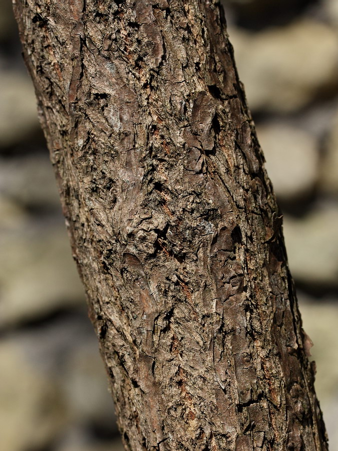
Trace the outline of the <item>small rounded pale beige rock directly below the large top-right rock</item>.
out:
<instances>
[{"instance_id":1,"label":"small rounded pale beige rock directly below the large top-right rock","mask_svg":"<svg viewBox=\"0 0 338 451\"><path fill-rule=\"evenodd\" d=\"M257 126L257 135L277 198L292 200L310 192L317 178L316 139L278 122Z\"/></svg>"}]
</instances>

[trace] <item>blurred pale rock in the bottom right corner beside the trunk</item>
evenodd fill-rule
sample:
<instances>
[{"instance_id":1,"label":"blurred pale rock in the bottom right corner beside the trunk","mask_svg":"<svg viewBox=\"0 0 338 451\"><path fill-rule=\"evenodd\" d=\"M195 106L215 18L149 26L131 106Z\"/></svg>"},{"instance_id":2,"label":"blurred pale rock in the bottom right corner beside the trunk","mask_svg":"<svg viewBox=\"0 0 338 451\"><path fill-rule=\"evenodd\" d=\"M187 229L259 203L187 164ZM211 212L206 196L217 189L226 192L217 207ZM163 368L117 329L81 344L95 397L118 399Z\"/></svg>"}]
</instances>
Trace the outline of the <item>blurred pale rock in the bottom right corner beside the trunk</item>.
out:
<instances>
[{"instance_id":1,"label":"blurred pale rock in the bottom right corner beside the trunk","mask_svg":"<svg viewBox=\"0 0 338 451\"><path fill-rule=\"evenodd\" d=\"M313 341L315 389L332 451L338 451L338 299L315 302L298 295L305 332Z\"/></svg>"}]
</instances>

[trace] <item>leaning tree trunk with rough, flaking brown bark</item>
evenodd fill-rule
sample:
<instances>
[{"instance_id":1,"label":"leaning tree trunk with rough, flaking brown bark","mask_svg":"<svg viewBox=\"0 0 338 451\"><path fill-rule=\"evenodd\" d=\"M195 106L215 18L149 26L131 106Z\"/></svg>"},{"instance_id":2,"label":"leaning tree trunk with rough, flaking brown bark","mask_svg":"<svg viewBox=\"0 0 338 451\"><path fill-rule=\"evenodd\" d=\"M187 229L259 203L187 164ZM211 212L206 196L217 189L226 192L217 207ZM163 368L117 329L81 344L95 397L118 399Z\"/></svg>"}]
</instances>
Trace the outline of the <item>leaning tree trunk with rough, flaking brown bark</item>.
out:
<instances>
[{"instance_id":1,"label":"leaning tree trunk with rough, flaking brown bark","mask_svg":"<svg viewBox=\"0 0 338 451\"><path fill-rule=\"evenodd\" d=\"M15 12L126 449L326 449L217 0Z\"/></svg>"}]
</instances>

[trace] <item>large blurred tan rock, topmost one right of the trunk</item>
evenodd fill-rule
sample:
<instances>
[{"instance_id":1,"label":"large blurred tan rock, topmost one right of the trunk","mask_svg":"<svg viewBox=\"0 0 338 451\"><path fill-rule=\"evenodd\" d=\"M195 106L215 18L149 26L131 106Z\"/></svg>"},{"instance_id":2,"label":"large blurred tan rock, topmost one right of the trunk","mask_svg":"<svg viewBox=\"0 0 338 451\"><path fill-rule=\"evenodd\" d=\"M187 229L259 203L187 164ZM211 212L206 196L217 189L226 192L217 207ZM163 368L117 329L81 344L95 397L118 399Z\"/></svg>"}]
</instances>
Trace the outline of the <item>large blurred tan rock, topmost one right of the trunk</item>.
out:
<instances>
[{"instance_id":1,"label":"large blurred tan rock, topmost one right of the trunk","mask_svg":"<svg viewBox=\"0 0 338 451\"><path fill-rule=\"evenodd\" d=\"M323 23L302 19L256 34L230 30L229 36L251 110L299 110L336 86L337 35Z\"/></svg>"}]
</instances>

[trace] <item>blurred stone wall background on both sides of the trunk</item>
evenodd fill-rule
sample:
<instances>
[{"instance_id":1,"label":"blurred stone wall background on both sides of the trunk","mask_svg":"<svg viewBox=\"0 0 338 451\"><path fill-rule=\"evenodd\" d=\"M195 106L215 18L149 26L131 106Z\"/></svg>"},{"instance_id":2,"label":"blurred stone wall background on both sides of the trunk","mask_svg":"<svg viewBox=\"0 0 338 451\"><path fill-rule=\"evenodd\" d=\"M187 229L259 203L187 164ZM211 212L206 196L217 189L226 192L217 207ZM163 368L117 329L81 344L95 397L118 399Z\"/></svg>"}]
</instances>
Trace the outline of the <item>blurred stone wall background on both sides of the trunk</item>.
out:
<instances>
[{"instance_id":1,"label":"blurred stone wall background on both sides of the trunk","mask_svg":"<svg viewBox=\"0 0 338 451\"><path fill-rule=\"evenodd\" d=\"M338 0L224 4L338 451ZM0 3L1 451L122 449L10 0Z\"/></svg>"}]
</instances>

